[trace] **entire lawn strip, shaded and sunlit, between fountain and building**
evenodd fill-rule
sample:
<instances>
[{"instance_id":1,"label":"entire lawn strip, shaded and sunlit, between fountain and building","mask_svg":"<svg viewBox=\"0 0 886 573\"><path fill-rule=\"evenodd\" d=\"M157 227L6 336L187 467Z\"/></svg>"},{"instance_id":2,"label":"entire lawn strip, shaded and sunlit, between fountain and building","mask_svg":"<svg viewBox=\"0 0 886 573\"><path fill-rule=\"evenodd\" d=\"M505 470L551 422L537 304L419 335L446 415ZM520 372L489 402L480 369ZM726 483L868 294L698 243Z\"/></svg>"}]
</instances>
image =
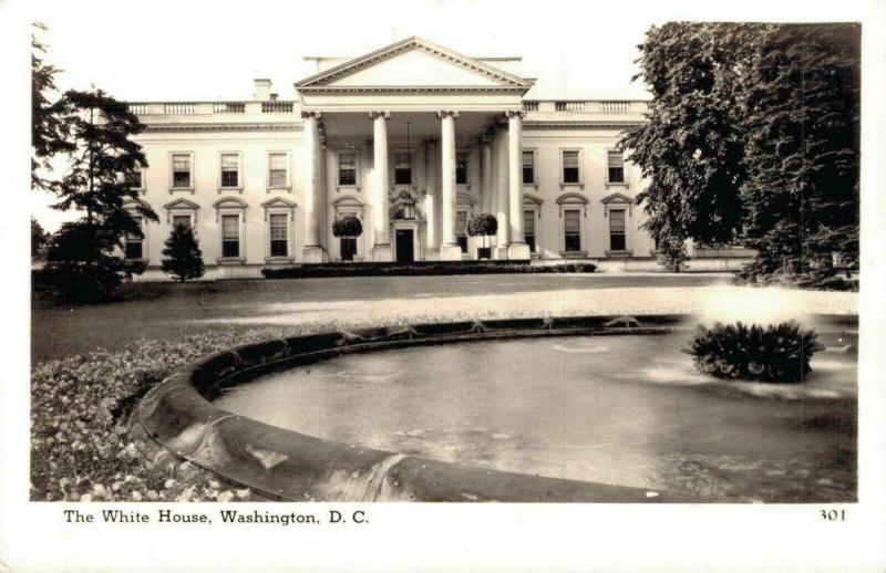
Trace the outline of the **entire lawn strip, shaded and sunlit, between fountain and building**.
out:
<instances>
[{"instance_id":1,"label":"entire lawn strip, shaded and sunlit, between fountain and building","mask_svg":"<svg viewBox=\"0 0 886 573\"><path fill-rule=\"evenodd\" d=\"M130 300L92 306L35 302L33 364L141 340L178 341L257 327L391 324L502 315L699 312L704 295L754 303L773 289L729 286L722 274L496 274L136 283ZM724 294L724 290L727 290ZM855 313L854 293L792 291L814 312ZM774 294L772 294L774 295ZM792 298L793 300L793 298ZM773 304L779 305L779 302ZM836 306L834 306L836 305Z\"/></svg>"}]
</instances>

